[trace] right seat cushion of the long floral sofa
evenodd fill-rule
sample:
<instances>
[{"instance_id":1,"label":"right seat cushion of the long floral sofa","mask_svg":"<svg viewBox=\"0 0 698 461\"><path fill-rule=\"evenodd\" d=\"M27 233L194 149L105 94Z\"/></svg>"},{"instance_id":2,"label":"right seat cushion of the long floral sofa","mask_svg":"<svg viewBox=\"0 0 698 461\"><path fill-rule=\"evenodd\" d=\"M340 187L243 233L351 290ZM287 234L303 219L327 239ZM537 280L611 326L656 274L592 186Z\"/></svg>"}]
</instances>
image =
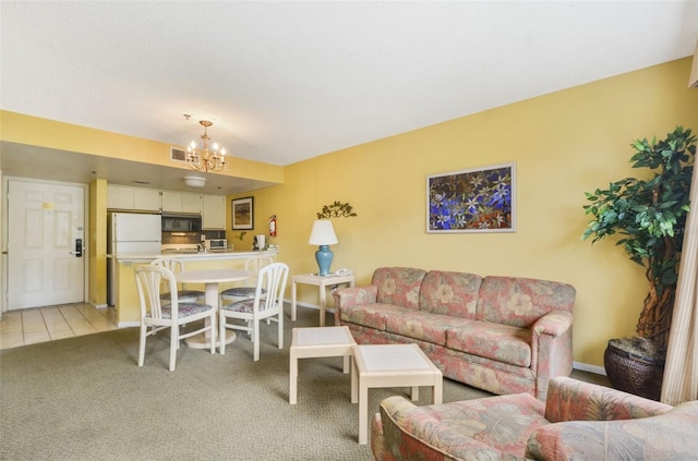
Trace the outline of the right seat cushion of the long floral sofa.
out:
<instances>
[{"instance_id":1,"label":"right seat cushion of the long floral sofa","mask_svg":"<svg viewBox=\"0 0 698 461\"><path fill-rule=\"evenodd\" d=\"M470 322L446 332L446 347L517 366L531 366L531 330Z\"/></svg>"}]
</instances>

